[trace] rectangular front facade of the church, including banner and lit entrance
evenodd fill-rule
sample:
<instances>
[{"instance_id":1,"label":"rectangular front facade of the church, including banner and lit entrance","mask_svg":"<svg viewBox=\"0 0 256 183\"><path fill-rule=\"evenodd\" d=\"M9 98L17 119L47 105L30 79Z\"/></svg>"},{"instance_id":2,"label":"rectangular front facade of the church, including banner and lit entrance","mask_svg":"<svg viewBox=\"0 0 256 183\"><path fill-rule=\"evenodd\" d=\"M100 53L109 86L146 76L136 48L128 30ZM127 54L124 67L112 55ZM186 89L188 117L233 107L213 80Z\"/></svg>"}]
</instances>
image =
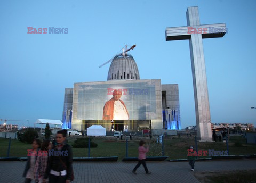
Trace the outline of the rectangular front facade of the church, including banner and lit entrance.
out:
<instances>
[{"instance_id":1,"label":"rectangular front facade of the church, including banner and lit entrance","mask_svg":"<svg viewBox=\"0 0 256 183\"><path fill-rule=\"evenodd\" d=\"M72 128L162 129L161 81L109 80L74 84ZM114 94L114 95L113 95ZM67 121L67 119L66 119Z\"/></svg>"}]
</instances>

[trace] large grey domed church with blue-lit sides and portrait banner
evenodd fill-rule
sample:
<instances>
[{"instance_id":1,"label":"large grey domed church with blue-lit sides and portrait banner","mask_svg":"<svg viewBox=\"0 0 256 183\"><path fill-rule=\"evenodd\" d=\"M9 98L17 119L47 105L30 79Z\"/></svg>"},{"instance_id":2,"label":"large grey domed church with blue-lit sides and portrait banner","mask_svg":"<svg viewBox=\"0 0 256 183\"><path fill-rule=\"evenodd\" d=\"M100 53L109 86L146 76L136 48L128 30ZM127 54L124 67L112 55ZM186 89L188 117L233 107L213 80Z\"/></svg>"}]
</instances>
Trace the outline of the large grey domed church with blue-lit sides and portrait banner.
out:
<instances>
[{"instance_id":1,"label":"large grey domed church with blue-lit sides and portrait banner","mask_svg":"<svg viewBox=\"0 0 256 183\"><path fill-rule=\"evenodd\" d=\"M107 81L78 82L74 88L65 88L62 122L62 128L76 130L92 124L106 131L181 129L178 84L140 79L133 56L118 54Z\"/></svg>"}]
</instances>

